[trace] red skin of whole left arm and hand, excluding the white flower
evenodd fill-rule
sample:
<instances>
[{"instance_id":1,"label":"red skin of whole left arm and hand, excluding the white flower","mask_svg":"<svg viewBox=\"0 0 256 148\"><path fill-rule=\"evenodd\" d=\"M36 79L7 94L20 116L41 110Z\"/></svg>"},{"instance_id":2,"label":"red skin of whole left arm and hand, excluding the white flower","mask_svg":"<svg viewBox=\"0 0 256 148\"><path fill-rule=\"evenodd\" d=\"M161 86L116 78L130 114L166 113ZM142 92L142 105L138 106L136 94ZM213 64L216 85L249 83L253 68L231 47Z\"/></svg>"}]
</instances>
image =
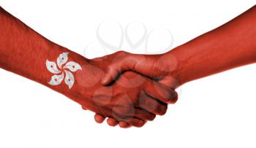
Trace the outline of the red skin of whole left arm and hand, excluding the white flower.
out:
<instances>
[{"instance_id":1,"label":"red skin of whole left arm and hand, excluding the white flower","mask_svg":"<svg viewBox=\"0 0 256 148\"><path fill-rule=\"evenodd\" d=\"M45 63L56 61L61 53L82 70L73 72L75 83L50 85L51 74ZM176 101L176 92L148 77L127 71L112 85L102 86L106 67L123 52L89 60L59 44L50 42L0 7L0 68L38 82L95 112L94 119L108 117L111 126L142 127L156 115L165 114L167 104ZM61 70L64 71L64 68Z\"/></svg>"}]
</instances>

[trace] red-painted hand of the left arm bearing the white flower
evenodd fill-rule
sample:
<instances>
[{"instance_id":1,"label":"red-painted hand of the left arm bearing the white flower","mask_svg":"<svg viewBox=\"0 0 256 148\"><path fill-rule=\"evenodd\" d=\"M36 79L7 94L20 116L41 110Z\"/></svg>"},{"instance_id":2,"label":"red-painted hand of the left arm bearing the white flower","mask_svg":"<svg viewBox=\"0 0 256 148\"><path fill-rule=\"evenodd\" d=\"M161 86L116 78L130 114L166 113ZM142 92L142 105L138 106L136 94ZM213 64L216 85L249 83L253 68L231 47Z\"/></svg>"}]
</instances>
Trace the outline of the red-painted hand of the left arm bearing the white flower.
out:
<instances>
[{"instance_id":1,"label":"red-painted hand of the left arm bearing the white flower","mask_svg":"<svg viewBox=\"0 0 256 148\"><path fill-rule=\"evenodd\" d=\"M76 79L80 87L76 90L78 103L84 109L96 112L95 120L102 122L108 118L110 125L127 128L130 125L141 127L159 114L165 114L166 103L176 100L174 90L151 81L133 72L126 72L116 83L102 86L99 82L106 66L113 59L110 56L97 58L82 66ZM159 99L159 100L157 100Z\"/></svg>"}]
</instances>

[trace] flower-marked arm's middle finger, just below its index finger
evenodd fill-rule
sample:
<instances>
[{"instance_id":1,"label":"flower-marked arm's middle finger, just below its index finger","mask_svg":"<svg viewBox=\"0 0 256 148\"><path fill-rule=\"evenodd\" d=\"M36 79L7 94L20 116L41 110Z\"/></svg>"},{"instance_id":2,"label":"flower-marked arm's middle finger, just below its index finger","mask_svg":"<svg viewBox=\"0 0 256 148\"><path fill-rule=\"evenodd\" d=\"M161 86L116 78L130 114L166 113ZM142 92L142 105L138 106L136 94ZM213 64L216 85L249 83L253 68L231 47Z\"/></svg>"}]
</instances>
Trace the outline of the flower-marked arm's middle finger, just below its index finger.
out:
<instances>
[{"instance_id":1,"label":"flower-marked arm's middle finger, just below its index finger","mask_svg":"<svg viewBox=\"0 0 256 148\"><path fill-rule=\"evenodd\" d=\"M152 114L164 115L167 111L167 104L161 103L146 93L140 93L140 108Z\"/></svg>"}]
</instances>

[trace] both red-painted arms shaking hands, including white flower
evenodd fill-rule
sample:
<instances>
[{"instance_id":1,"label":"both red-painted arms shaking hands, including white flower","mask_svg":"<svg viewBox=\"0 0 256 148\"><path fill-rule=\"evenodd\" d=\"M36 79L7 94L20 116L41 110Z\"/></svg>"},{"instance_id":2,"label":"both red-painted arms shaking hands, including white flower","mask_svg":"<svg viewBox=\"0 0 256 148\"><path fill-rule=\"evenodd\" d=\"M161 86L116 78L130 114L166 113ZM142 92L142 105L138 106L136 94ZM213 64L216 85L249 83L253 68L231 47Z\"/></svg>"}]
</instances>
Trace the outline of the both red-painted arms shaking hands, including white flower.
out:
<instances>
[{"instance_id":1,"label":"both red-painted arms shaking hands, including white flower","mask_svg":"<svg viewBox=\"0 0 256 148\"><path fill-rule=\"evenodd\" d=\"M164 54L95 59L51 42L0 7L0 68L67 96L110 126L142 127L177 101L177 87L255 61L256 6Z\"/></svg>"}]
</instances>

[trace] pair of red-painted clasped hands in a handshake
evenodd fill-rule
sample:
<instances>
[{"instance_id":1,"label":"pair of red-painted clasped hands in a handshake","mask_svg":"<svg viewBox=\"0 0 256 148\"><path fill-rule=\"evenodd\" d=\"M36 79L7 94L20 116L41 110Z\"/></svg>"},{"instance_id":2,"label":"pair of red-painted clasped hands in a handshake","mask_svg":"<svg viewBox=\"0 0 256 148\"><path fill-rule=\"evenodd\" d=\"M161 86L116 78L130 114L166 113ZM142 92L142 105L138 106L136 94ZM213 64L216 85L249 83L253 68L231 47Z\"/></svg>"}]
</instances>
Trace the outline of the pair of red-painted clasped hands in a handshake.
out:
<instances>
[{"instance_id":1,"label":"pair of red-painted clasped hands in a handshake","mask_svg":"<svg viewBox=\"0 0 256 148\"><path fill-rule=\"evenodd\" d=\"M177 101L174 89L179 83L173 74L178 62L168 52L138 55L120 51L88 63L76 79L90 99L78 103L95 112L98 123L108 118L110 126L142 127Z\"/></svg>"}]
</instances>

